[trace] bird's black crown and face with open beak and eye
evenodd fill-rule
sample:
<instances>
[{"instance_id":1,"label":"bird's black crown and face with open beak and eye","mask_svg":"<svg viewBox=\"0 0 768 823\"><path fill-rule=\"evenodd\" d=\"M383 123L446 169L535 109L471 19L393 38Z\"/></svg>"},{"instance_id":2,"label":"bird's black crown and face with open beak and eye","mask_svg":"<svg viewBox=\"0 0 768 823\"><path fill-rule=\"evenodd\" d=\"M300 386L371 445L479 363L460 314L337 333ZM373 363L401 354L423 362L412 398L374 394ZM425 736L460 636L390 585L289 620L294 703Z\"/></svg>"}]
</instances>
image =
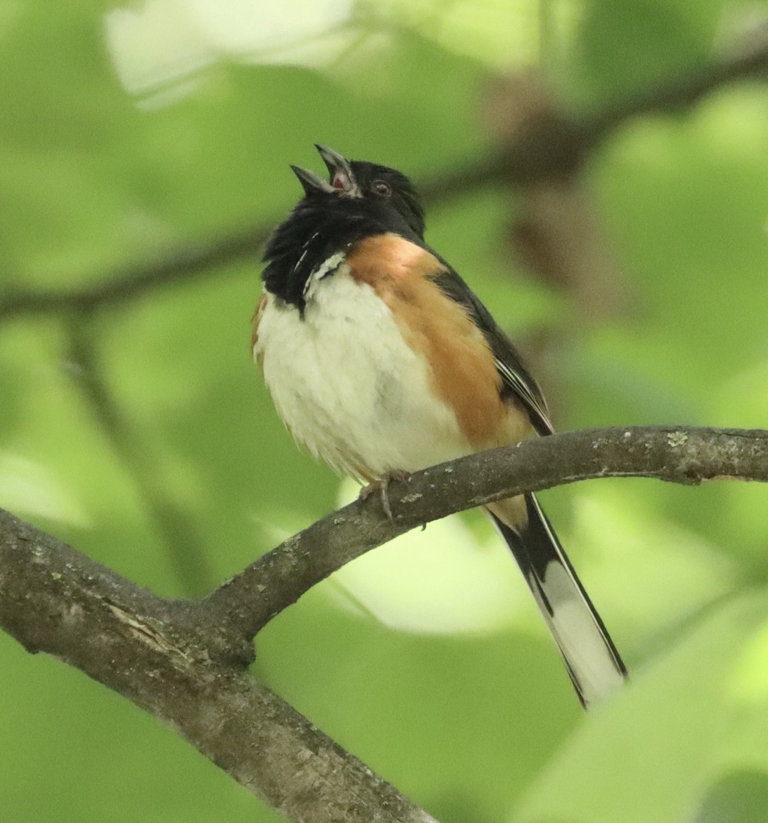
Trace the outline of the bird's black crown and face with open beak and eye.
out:
<instances>
[{"instance_id":1,"label":"bird's black crown and face with open beak and eye","mask_svg":"<svg viewBox=\"0 0 768 823\"><path fill-rule=\"evenodd\" d=\"M313 171L291 166L304 187L307 200L357 199L360 206L370 207L372 212L386 214L391 209L419 239L424 239L424 208L405 174L386 165L347 160L326 146L316 148L328 167L329 182Z\"/></svg>"}]
</instances>

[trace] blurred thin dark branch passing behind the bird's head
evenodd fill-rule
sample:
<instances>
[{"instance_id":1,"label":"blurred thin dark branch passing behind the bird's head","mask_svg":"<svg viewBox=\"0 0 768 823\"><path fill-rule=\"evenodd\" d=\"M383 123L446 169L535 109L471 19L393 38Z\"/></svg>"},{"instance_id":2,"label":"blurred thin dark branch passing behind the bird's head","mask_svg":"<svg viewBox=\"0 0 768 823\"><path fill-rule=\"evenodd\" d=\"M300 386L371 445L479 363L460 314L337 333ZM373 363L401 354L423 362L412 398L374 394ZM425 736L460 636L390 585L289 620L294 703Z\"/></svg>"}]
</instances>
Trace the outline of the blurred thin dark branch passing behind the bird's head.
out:
<instances>
[{"instance_id":1,"label":"blurred thin dark branch passing behind the bird's head","mask_svg":"<svg viewBox=\"0 0 768 823\"><path fill-rule=\"evenodd\" d=\"M763 40L747 53L698 67L597 111L568 115L552 109L546 116L530 119L525 130L504 142L491 156L422 181L422 191L429 201L446 201L489 184L530 185L569 179L588 155L628 120L643 114L676 112L729 83L763 79L766 72L768 43ZM187 244L154 263L144 261L89 278L95 286L71 291L6 291L0 295L0 319L109 307L135 300L158 287L193 280L209 270L222 271L226 263L255 257L275 222L209 244Z\"/></svg>"}]
</instances>

